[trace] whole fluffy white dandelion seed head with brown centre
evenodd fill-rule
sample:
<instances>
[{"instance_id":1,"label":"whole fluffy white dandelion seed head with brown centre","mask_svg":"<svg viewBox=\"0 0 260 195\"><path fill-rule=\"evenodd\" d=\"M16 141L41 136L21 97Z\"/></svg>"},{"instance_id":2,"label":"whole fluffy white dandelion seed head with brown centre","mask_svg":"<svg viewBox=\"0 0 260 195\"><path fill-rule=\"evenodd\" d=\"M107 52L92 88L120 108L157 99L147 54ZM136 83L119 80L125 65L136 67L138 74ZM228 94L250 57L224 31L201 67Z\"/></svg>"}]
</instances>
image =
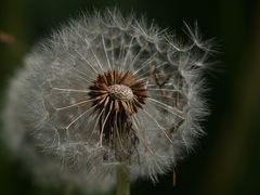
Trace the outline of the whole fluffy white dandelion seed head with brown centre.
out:
<instances>
[{"instance_id":1,"label":"whole fluffy white dandelion seed head with brown centre","mask_svg":"<svg viewBox=\"0 0 260 195\"><path fill-rule=\"evenodd\" d=\"M156 181L192 148L207 114L202 76L211 49L186 29L184 44L116 10L63 26L11 84L9 144L55 173L62 167L72 183L113 183L116 170Z\"/></svg>"}]
</instances>

